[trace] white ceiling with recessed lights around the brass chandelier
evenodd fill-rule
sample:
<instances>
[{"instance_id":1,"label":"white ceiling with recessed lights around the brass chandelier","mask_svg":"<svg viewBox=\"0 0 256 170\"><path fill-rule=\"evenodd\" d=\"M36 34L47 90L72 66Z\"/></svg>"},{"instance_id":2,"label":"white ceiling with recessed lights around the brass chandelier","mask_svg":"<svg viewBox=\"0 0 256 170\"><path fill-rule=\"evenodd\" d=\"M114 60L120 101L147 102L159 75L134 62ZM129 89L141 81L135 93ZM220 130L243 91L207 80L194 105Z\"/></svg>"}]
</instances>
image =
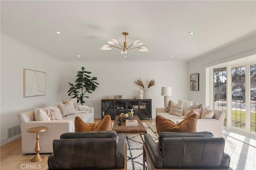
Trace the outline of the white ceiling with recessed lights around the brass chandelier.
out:
<instances>
[{"instance_id":1,"label":"white ceiling with recessed lights around the brass chandelier","mask_svg":"<svg viewBox=\"0 0 256 170\"><path fill-rule=\"evenodd\" d=\"M62 61L186 61L256 30L255 1L1 0L0 5L2 34ZM123 57L120 49L99 50L112 38L123 45L122 32L129 33L128 46L140 39L150 52L132 49Z\"/></svg>"}]
</instances>

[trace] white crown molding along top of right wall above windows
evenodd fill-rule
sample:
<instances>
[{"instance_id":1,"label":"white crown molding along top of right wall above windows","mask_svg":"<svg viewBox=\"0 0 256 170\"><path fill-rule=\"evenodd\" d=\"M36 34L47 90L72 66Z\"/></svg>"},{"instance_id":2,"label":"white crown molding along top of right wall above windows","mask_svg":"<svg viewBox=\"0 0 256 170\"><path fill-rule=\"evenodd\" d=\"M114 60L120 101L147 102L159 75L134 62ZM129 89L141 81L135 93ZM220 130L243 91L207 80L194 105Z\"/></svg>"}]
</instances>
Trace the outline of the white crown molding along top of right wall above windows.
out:
<instances>
[{"instance_id":1,"label":"white crown molding along top of right wall above windows","mask_svg":"<svg viewBox=\"0 0 256 170\"><path fill-rule=\"evenodd\" d=\"M232 45L234 45L234 44L236 44L236 43L239 43L239 42L241 42L241 41L243 41L243 40L245 40L245 39L254 37L255 35L256 35L256 30L254 30L254 31L252 31L252 32L250 32L250 33L248 33L248 34L246 34L246 35L243 35L242 37L239 37L239 38L237 38L237 39L234 39L233 41L230 41L230 42L228 42L228 43L226 43L226 44L224 44L224 45L221 45L220 47L217 47L217 48L212 49L212 50L210 50L210 51L208 51L208 52L206 52L206 53L203 53L203 54L201 54L201 55L199 55L199 56L197 56L197 57L194 57L194 58L188 60L188 62L190 62L190 61L195 61L195 60L201 59L201 58L203 58L203 57L206 57L206 56L208 56L208 55L211 55L211 54L213 54L213 53L216 53L216 52L218 52L218 51L221 51L222 49L225 49L225 48L227 48L227 47L230 47L230 46L232 46Z\"/></svg>"}]
</instances>

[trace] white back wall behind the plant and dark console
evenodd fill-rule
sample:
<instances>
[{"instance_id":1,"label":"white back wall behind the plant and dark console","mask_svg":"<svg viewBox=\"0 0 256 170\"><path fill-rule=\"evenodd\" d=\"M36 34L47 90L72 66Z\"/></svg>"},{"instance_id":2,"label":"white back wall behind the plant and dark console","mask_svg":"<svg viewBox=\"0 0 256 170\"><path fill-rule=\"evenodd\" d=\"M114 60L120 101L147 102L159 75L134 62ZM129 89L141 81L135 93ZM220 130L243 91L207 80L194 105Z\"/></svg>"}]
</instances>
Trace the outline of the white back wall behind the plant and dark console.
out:
<instances>
[{"instance_id":1,"label":"white back wall behind the plant and dark console","mask_svg":"<svg viewBox=\"0 0 256 170\"><path fill-rule=\"evenodd\" d=\"M120 56L121 57L121 56ZM122 95L123 99L138 96L140 86L134 81L141 78L144 85L152 79L156 86L149 89L148 96L152 99L152 117L156 116L156 107L164 107L164 96L161 96L162 86L172 87L171 99L187 99L188 79L186 62L63 62L62 63L62 98L70 99L67 91L68 82L74 83L76 72L84 66L91 76L98 78L98 88L88 94L84 105L94 107L94 117L101 118L101 99L110 95Z\"/></svg>"}]
</instances>

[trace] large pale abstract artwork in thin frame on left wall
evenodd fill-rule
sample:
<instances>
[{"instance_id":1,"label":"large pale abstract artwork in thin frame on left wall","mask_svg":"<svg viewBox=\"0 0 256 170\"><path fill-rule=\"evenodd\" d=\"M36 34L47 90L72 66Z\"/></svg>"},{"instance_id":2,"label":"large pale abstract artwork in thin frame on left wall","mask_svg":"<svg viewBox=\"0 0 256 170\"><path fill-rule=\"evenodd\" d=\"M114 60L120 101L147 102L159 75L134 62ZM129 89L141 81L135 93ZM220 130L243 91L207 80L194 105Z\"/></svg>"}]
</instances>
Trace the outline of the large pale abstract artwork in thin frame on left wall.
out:
<instances>
[{"instance_id":1,"label":"large pale abstract artwork in thin frame on left wall","mask_svg":"<svg viewBox=\"0 0 256 170\"><path fill-rule=\"evenodd\" d=\"M23 96L46 95L46 73L23 69Z\"/></svg>"}]
</instances>

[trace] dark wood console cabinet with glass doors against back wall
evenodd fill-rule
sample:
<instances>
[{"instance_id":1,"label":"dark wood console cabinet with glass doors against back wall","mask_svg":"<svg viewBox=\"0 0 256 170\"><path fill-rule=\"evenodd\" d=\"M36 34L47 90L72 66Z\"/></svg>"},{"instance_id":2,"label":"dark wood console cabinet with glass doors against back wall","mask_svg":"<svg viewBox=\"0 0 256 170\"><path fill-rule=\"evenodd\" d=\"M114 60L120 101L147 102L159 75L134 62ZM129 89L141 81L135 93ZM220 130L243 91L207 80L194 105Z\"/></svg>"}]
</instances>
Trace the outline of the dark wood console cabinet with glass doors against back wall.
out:
<instances>
[{"instance_id":1,"label":"dark wood console cabinet with glass doors against back wall","mask_svg":"<svg viewBox=\"0 0 256 170\"><path fill-rule=\"evenodd\" d=\"M102 115L110 115L111 118L115 118L116 115L121 113L128 113L131 109L134 111L134 115L140 118L152 119L152 99L102 99L101 111Z\"/></svg>"}]
</instances>

